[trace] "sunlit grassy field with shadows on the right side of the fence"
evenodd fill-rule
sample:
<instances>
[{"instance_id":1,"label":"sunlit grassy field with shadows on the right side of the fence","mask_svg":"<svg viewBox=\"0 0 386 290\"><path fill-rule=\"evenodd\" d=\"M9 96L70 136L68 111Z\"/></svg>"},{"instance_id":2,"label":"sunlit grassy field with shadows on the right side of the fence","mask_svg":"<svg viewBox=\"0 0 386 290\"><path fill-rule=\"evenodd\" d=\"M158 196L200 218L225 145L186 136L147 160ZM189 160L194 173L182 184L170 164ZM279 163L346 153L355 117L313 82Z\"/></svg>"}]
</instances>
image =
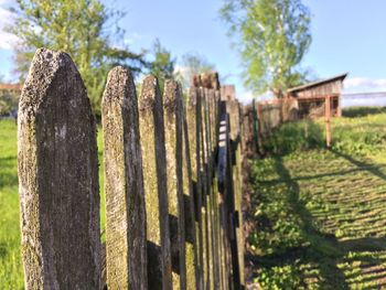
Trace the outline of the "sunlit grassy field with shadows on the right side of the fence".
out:
<instances>
[{"instance_id":1,"label":"sunlit grassy field with shadows on the right side of the fence","mask_svg":"<svg viewBox=\"0 0 386 290\"><path fill-rule=\"evenodd\" d=\"M321 121L287 123L251 162L248 254L264 289L386 289L386 114L375 112L334 119L331 150Z\"/></svg>"}]
</instances>

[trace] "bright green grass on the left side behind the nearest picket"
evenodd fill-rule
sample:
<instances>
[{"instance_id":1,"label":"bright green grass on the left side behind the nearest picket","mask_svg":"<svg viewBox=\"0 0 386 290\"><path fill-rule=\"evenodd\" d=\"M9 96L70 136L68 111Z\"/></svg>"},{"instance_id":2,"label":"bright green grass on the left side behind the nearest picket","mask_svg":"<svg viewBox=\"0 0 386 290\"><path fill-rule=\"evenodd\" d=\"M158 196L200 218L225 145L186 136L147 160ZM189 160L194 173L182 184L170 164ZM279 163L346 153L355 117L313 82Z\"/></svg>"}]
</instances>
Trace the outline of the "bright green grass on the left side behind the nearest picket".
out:
<instances>
[{"instance_id":1,"label":"bright green grass on the left side behind the nearest picket","mask_svg":"<svg viewBox=\"0 0 386 290\"><path fill-rule=\"evenodd\" d=\"M20 249L18 194L18 128L14 121L0 120L0 289L23 289ZM98 133L100 227L105 228L104 172L101 135ZM104 236L101 237L104 239Z\"/></svg>"}]
</instances>

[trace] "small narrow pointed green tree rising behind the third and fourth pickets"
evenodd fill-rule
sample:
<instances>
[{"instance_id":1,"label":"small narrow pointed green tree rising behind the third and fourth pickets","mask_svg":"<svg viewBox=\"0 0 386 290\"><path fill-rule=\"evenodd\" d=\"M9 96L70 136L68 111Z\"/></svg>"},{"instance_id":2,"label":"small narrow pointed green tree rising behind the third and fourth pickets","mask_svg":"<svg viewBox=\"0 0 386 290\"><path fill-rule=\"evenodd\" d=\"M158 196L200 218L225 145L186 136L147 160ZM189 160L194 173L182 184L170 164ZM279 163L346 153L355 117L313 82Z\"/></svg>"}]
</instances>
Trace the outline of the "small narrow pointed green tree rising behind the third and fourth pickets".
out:
<instances>
[{"instance_id":1,"label":"small narrow pointed green tree rising behind the third and fourth pickets","mask_svg":"<svg viewBox=\"0 0 386 290\"><path fill-rule=\"evenodd\" d=\"M171 52L162 46L158 39L153 43L153 55L154 61L150 64L150 73L158 77L162 92L164 80L174 78L175 58L172 58Z\"/></svg>"}]
</instances>

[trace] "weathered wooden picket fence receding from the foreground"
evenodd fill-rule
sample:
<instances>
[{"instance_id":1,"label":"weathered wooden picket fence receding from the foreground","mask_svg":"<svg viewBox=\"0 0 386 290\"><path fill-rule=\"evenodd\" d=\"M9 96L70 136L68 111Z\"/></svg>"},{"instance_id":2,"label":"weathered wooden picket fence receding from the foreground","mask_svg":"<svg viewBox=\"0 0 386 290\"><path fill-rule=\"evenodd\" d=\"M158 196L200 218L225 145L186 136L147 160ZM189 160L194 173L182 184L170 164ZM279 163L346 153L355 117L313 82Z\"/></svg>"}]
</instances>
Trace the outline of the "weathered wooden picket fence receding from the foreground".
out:
<instances>
[{"instance_id":1,"label":"weathered wooden picket fence receding from the foreground","mask_svg":"<svg viewBox=\"0 0 386 290\"><path fill-rule=\"evenodd\" d=\"M67 54L36 52L18 120L25 288L243 289L240 106L217 75L187 100L148 76L137 99L116 67L101 112L106 246L85 86Z\"/></svg>"}]
</instances>

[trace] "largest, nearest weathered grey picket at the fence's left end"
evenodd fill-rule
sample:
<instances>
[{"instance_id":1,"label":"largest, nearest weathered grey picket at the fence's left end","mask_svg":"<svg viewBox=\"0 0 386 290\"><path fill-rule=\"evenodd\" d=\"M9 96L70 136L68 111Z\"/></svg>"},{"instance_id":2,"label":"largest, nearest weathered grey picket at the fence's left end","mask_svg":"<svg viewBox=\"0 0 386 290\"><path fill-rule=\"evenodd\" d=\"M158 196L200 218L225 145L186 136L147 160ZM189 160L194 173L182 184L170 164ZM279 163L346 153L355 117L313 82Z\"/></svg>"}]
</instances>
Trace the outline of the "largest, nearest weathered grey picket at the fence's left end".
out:
<instances>
[{"instance_id":1,"label":"largest, nearest weathered grey picket at the fence's left end","mask_svg":"<svg viewBox=\"0 0 386 290\"><path fill-rule=\"evenodd\" d=\"M96 127L71 57L41 49L19 105L26 289L99 289Z\"/></svg>"}]
</instances>

